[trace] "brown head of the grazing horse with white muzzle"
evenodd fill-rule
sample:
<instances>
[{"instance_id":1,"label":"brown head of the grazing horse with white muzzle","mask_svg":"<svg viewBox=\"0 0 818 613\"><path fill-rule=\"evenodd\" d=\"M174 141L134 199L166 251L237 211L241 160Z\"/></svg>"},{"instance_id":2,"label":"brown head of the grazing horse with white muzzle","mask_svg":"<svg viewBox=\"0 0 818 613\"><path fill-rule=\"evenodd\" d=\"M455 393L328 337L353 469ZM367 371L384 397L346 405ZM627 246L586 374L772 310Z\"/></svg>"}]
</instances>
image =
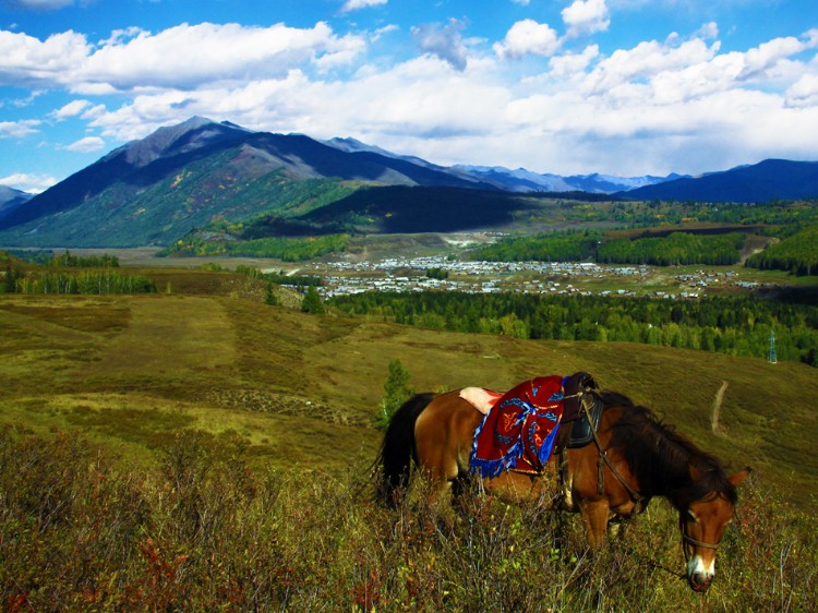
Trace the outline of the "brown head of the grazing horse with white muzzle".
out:
<instances>
[{"instance_id":1,"label":"brown head of the grazing horse with white muzzle","mask_svg":"<svg viewBox=\"0 0 818 613\"><path fill-rule=\"evenodd\" d=\"M731 490L710 492L679 509L687 582L695 591L707 591L715 576L715 553L724 530L735 516L735 489L748 473L749 469L745 469L732 474L727 478Z\"/></svg>"}]
</instances>

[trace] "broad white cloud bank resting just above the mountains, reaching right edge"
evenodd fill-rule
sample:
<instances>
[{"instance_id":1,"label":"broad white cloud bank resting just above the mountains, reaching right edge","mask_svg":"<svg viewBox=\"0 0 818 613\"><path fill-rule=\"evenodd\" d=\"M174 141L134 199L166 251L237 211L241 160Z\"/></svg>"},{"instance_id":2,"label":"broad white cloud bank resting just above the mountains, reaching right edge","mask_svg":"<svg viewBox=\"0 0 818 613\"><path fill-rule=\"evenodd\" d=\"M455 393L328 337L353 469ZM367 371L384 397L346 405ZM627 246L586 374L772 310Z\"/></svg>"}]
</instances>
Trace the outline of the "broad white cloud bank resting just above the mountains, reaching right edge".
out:
<instances>
[{"instance_id":1,"label":"broad white cloud bank resting just above the mountains, reaching right edge","mask_svg":"<svg viewBox=\"0 0 818 613\"><path fill-rule=\"evenodd\" d=\"M443 27L417 32L416 38ZM562 173L697 172L753 160L756 152L758 159L770 157L771 147L779 147L780 157L814 152L808 135L818 130L818 77L805 73L818 75L818 60L806 68L792 55L804 52L807 35L798 38L802 46L770 41L744 52L720 52L719 41L705 36L647 40L610 55L597 45L581 51L556 47L545 72L525 77L522 64L500 62L496 55L476 53L468 70L453 72L452 65L467 68L458 37L448 46L445 37L437 44L429 37L423 56L368 64L351 79L293 67L243 82L145 89L119 108L88 107L83 116L93 112L91 128L123 141L202 115L255 130L352 135L438 164ZM454 56L460 63L446 59L453 45L461 47ZM513 48L536 47L520 44L504 52ZM747 65L763 69L751 87L739 79ZM782 65L801 67L787 73L786 98L783 88L760 92L768 75L781 79ZM793 127L786 140L785 127Z\"/></svg>"}]
</instances>

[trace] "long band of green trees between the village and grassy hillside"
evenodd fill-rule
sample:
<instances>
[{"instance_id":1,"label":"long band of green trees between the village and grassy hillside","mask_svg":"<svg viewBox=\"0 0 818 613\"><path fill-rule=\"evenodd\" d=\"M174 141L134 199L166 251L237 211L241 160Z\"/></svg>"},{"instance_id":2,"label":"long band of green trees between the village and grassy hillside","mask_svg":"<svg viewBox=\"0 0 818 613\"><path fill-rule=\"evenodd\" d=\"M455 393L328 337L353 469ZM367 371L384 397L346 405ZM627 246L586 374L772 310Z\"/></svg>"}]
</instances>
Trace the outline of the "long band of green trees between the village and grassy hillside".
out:
<instances>
[{"instance_id":1,"label":"long band of green trees between the village and grassy hillside","mask_svg":"<svg viewBox=\"0 0 818 613\"><path fill-rule=\"evenodd\" d=\"M629 341L818 366L818 308L751 297L689 301L642 297L364 292L329 301L353 315L514 338Z\"/></svg>"}]
</instances>

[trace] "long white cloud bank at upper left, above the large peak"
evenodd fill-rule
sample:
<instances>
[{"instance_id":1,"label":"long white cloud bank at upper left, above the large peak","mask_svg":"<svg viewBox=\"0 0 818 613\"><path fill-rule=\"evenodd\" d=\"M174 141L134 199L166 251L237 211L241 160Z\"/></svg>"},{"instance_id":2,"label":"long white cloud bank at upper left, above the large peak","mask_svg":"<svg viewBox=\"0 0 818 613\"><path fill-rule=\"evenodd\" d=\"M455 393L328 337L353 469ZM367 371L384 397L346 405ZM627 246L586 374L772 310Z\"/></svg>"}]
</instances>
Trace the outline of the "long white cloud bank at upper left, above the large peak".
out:
<instances>
[{"instance_id":1,"label":"long white cloud bank at upper left, above the large peak","mask_svg":"<svg viewBox=\"0 0 818 613\"><path fill-rule=\"evenodd\" d=\"M363 38L336 36L324 22L312 28L181 24L158 34L123 33L99 47L71 31L46 40L0 32L0 83L65 86L85 95L195 88L219 80L282 76L305 63L326 70L351 62L364 49Z\"/></svg>"}]
</instances>

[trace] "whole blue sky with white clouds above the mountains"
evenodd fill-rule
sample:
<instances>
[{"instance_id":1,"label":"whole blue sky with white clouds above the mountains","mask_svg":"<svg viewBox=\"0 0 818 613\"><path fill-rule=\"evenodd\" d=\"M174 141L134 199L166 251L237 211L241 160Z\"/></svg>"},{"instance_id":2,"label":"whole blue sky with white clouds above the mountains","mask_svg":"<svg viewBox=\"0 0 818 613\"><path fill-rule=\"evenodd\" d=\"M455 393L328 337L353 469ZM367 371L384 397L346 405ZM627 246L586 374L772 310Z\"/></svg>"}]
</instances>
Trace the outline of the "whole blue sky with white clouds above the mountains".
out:
<instances>
[{"instance_id":1,"label":"whole blue sky with white clouds above the mountains","mask_svg":"<svg viewBox=\"0 0 818 613\"><path fill-rule=\"evenodd\" d=\"M0 0L0 184L194 115L560 175L818 160L818 1Z\"/></svg>"}]
</instances>

